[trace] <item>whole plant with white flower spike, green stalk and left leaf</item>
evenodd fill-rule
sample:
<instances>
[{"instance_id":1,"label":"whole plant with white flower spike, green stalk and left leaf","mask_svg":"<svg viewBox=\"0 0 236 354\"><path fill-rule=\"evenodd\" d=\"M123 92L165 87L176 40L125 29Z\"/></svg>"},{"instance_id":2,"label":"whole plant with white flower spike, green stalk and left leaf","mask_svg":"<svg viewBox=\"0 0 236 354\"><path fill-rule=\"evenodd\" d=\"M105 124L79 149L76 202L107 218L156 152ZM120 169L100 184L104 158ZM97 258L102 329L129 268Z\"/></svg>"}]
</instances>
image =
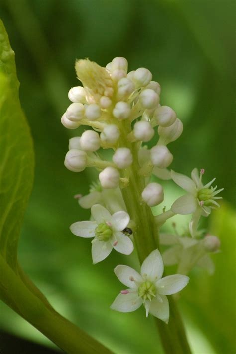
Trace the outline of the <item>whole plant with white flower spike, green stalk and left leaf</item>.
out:
<instances>
[{"instance_id":1,"label":"whole plant with white flower spike, green stalk and left leaf","mask_svg":"<svg viewBox=\"0 0 236 354\"><path fill-rule=\"evenodd\" d=\"M76 62L82 86L69 91L72 104L62 116L68 129L80 125L92 129L69 141L65 166L74 172L94 167L99 180L90 193L75 197L91 208L90 221L75 221L73 234L92 240L93 263L104 260L114 249L129 255L134 247L140 273L118 265L115 274L127 287L111 305L130 312L145 307L156 318L166 353L190 353L176 300L188 283L187 274L197 264L214 271L208 255L217 252L219 239L198 230L200 216L218 207L213 181L203 185L204 170L194 169L191 178L170 171L173 155L167 145L182 133L175 112L160 106L160 85L148 69L127 73L127 61L117 57L106 68L85 60ZM0 22L0 299L67 353L110 353L110 350L57 313L40 290L22 271L17 244L24 210L33 183L34 154L30 131L22 112L14 52ZM148 149L145 145L159 140ZM112 149L112 160L98 150ZM187 194L171 209L154 216L151 207L164 200L163 187L151 175L173 179ZM27 183L26 183L27 181ZM188 230L179 235L160 233L160 227L175 214L192 214ZM166 248L160 253L160 244ZM178 264L177 274L165 276L164 265ZM176 297L176 296L175 296ZM177 298L177 297L176 297Z\"/></svg>"}]
</instances>

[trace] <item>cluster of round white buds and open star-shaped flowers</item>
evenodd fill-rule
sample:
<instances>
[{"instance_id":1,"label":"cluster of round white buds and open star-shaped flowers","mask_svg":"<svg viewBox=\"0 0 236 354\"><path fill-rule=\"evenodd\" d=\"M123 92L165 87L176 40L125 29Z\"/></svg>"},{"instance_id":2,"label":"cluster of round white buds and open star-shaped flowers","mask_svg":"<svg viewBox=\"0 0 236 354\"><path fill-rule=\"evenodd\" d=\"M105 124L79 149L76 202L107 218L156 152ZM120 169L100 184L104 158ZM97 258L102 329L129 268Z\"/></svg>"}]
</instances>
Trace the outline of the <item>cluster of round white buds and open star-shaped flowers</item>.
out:
<instances>
[{"instance_id":1,"label":"cluster of round white buds and open star-shaped flowers","mask_svg":"<svg viewBox=\"0 0 236 354\"><path fill-rule=\"evenodd\" d=\"M212 208L219 206L216 199L220 197L216 195L222 189L210 187L214 180L202 184L204 170L199 176L194 169L190 179L168 169L173 155L167 145L179 138L183 124L170 107L160 105L159 83L152 80L146 68L128 72L123 57L114 58L106 67L89 59L78 60L75 69L83 86L70 89L68 97L72 103L61 122L68 129L89 129L69 140L65 166L73 172L94 167L99 171L99 181L92 184L88 195L75 196L81 207L91 208L91 221L75 222L70 229L76 236L93 238L93 263L104 260L113 248L126 255L133 251L133 239L136 243L141 237L136 229L139 216L133 213L130 219L133 208L127 205L132 204L133 191L138 193L135 200L143 210L164 200L163 187L151 180L152 175L161 180L172 179L188 192L170 210L153 217L153 228L158 232L175 214L193 214L189 230L196 237L200 216L209 215ZM111 159L103 159L101 149L110 149ZM135 189L136 179L141 188ZM132 193L130 190L125 199L124 191L130 186ZM182 248L189 248L182 241L173 243L179 253L184 252ZM146 314L150 312L165 322L169 317L166 295L180 291L188 282L180 274L160 279L163 261L157 249L144 260L141 275L127 266L118 266L115 273L129 289L121 291L113 309L133 311L143 303Z\"/></svg>"}]
</instances>

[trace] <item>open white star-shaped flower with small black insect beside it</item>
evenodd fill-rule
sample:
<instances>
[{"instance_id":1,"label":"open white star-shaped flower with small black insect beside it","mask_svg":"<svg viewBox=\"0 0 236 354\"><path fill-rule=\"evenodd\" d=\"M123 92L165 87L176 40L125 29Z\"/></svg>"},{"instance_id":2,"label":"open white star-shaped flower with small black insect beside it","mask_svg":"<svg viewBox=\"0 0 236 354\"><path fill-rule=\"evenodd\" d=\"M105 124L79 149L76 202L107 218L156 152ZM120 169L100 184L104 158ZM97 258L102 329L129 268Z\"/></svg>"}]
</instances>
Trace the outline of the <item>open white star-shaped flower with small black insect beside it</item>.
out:
<instances>
[{"instance_id":1,"label":"open white star-shaped flower with small black insect beside it","mask_svg":"<svg viewBox=\"0 0 236 354\"><path fill-rule=\"evenodd\" d=\"M126 212L118 211L111 215L102 205L95 204L91 208L91 215L95 221L78 221L70 226L70 230L79 237L94 237L93 264L107 258L113 248L119 253L132 253L133 243L122 233L130 220Z\"/></svg>"}]
</instances>

